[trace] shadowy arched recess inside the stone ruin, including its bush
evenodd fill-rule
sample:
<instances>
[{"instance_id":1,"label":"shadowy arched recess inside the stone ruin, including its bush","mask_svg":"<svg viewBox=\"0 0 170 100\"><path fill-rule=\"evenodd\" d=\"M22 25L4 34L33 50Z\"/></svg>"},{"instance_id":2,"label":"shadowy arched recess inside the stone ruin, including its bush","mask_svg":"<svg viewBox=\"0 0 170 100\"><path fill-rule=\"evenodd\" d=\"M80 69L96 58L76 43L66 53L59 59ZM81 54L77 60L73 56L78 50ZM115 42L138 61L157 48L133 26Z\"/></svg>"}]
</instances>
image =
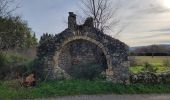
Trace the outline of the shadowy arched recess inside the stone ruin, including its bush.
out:
<instances>
[{"instance_id":1,"label":"shadowy arched recess inside the stone ruin, including its bush","mask_svg":"<svg viewBox=\"0 0 170 100\"><path fill-rule=\"evenodd\" d=\"M105 73L108 64L103 50L98 45L85 39L76 39L61 48L58 67L76 78L94 78L96 75L88 77L86 74Z\"/></svg>"}]
</instances>

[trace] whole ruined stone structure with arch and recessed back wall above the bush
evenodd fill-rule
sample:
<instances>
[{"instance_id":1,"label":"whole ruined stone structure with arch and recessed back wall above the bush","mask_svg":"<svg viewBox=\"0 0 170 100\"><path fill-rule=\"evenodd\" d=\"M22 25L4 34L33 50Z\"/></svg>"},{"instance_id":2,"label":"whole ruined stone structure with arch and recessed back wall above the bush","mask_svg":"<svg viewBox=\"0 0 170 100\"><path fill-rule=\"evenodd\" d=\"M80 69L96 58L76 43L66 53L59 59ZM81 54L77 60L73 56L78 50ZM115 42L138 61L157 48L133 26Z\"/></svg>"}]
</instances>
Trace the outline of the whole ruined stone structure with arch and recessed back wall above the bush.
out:
<instances>
[{"instance_id":1,"label":"whole ruined stone structure with arch and recessed back wall above the bush","mask_svg":"<svg viewBox=\"0 0 170 100\"><path fill-rule=\"evenodd\" d=\"M122 83L129 80L128 50L125 43L96 29L93 18L77 25L76 15L69 12L68 28L56 35L44 34L37 56L47 79L67 79L74 65L96 63L106 80Z\"/></svg>"}]
</instances>

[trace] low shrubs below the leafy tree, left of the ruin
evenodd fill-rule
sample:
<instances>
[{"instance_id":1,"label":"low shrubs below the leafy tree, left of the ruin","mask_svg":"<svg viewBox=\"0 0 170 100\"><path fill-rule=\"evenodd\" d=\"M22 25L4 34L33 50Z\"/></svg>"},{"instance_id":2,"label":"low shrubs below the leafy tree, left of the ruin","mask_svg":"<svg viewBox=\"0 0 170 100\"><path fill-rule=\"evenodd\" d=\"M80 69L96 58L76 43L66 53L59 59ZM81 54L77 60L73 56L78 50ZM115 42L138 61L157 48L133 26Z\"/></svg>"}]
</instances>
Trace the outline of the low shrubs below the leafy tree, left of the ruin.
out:
<instances>
[{"instance_id":1,"label":"low shrubs below the leafy tree, left of the ruin","mask_svg":"<svg viewBox=\"0 0 170 100\"><path fill-rule=\"evenodd\" d=\"M28 59L21 55L0 53L0 80L15 80L34 73L43 79L42 64L38 59Z\"/></svg>"}]
</instances>

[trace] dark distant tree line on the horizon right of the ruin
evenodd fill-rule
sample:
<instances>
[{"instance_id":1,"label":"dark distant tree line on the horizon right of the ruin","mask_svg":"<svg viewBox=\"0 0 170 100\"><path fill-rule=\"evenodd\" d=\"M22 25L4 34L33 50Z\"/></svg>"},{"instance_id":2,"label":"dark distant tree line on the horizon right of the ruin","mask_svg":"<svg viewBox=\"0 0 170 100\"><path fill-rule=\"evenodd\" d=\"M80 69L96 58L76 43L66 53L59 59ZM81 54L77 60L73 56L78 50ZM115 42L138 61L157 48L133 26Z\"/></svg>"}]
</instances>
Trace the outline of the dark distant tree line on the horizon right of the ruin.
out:
<instances>
[{"instance_id":1,"label":"dark distant tree line on the horizon right of the ruin","mask_svg":"<svg viewBox=\"0 0 170 100\"><path fill-rule=\"evenodd\" d=\"M151 45L136 48L130 52L131 56L170 56L170 48L166 45Z\"/></svg>"}]
</instances>

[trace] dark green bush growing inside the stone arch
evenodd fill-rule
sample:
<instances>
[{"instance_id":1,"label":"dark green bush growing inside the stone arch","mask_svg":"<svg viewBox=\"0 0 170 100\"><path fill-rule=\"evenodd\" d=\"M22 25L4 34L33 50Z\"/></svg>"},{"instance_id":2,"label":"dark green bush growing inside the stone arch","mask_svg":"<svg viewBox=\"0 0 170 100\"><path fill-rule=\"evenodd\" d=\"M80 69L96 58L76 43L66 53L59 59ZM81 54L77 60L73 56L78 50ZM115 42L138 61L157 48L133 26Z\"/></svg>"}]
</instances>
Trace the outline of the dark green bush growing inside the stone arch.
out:
<instances>
[{"instance_id":1,"label":"dark green bush growing inside the stone arch","mask_svg":"<svg viewBox=\"0 0 170 100\"><path fill-rule=\"evenodd\" d=\"M89 79L94 80L101 77L102 67L97 64L80 64L72 66L69 69L69 74L75 79Z\"/></svg>"}]
</instances>

